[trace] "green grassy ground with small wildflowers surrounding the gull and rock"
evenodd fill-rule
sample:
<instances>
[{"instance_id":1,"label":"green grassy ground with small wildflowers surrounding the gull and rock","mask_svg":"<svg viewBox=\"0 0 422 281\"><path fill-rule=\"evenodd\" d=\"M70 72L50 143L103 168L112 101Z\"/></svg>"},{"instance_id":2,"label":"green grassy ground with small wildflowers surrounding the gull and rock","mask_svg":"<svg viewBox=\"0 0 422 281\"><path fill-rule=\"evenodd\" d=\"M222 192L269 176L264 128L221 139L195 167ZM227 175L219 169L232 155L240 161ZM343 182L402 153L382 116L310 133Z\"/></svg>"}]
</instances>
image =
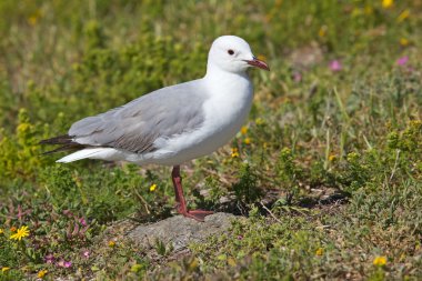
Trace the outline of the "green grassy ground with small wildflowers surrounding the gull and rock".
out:
<instances>
[{"instance_id":1,"label":"green grassy ground with small wildflowers surrounding the gull and rock","mask_svg":"<svg viewBox=\"0 0 422 281\"><path fill-rule=\"evenodd\" d=\"M2 1L0 280L421 279L422 1L389 2ZM242 131L182 171L192 207L245 218L149 254L107 227L171 215L169 168L57 164L38 142L201 77L227 33L271 72L251 71Z\"/></svg>"}]
</instances>

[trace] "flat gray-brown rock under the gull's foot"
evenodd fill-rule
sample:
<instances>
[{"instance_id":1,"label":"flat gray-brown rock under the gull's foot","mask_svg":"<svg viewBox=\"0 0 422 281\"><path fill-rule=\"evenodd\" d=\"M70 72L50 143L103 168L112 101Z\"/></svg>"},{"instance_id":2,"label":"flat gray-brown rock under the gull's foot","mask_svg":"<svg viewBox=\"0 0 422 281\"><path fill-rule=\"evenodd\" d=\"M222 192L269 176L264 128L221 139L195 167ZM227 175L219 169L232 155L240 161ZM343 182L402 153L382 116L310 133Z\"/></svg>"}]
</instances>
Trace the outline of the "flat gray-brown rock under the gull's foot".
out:
<instances>
[{"instance_id":1,"label":"flat gray-brown rock under the gull's foot","mask_svg":"<svg viewBox=\"0 0 422 281\"><path fill-rule=\"evenodd\" d=\"M151 249L157 241L172 244L174 252L181 251L191 242L204 241L212 234L219 234L229 229L231 221L235 220L231 213L214 213L205 217L204 222L184 218L172 217L152 224L139 225L128 233L135 243Z\"/></svg>"}]
</instances>

